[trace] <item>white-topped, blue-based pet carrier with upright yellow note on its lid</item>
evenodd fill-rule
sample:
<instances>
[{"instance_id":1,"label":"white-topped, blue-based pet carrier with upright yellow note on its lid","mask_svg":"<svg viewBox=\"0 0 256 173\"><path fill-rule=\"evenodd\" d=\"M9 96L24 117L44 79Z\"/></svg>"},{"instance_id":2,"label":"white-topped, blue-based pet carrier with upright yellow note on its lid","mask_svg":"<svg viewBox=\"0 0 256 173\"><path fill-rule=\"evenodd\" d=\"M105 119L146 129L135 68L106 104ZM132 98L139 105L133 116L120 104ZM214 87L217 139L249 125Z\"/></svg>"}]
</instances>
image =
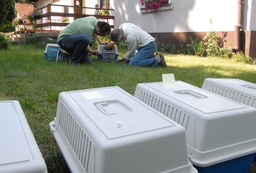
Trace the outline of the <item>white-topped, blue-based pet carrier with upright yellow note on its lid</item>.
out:
<instances>
[{"instance_id":1,"label":"white-topped, blue-based pet carrier with upright yellow note on its lid","mask_svg":"<svg viewBox=\"0 0 256 173\"><path fill-rule=\"evenodd\" d=\"M247 172L256 155L256 109L176 81L138 84L134 96L186 128L198 172Z\"/></svg>"}]
</instances>

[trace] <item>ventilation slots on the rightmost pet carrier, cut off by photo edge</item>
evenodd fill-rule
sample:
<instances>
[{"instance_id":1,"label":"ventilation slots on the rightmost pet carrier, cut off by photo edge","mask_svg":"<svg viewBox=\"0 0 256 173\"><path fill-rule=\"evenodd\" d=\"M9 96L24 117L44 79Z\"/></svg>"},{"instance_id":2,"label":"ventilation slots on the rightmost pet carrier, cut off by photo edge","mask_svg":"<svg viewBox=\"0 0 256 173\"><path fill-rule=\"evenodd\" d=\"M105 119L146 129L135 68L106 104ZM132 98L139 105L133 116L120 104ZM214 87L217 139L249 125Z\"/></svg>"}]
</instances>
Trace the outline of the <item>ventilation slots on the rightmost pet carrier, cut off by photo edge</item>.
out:
<instances>
[{"instance_id":1,"label":"ventilation slots on the rightmost pet carrier, cut off by photo edge","mask_svg":"<svg viewBox=\"0 0 256 173\"><path fill-rule=\"evenodd\" d=\"M239 103L246 104L248 106L256 108L256 99L249 97L247 95L213 84L210 85L209 91L221 95L222 97L226 97Z\"/></svg>"}]
</instances>

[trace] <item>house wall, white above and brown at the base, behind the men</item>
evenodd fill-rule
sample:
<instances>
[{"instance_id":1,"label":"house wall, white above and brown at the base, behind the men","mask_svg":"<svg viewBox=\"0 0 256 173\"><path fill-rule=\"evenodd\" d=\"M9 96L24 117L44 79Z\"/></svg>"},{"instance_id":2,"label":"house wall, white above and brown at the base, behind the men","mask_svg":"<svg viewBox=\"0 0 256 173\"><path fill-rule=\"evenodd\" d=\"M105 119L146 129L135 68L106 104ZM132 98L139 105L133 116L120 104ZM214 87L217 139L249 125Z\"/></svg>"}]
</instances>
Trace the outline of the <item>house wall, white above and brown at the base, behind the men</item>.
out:
<instances>
[{"instance_id":1,"label":"house wall, white above and brown at the base, behind the men","mask_svg":"<svg viewBox=\"0 0 256 173\"><path fill-rule=\"evenodd\" d=\"M212 3L210 3L212 2ZM134 23L150 33L162 44L175 44L179 48L180 42L185 46L191 43L189 36L201 40L208 31L213 30L222 37L222 31L227 32L224 46L234 45L234 30L238 24L238 0L171 0L168 10L142 13L140 0L116 1L111 0L111 8L115 9L111 15L115 16L114 27L129 22ZM241 51L256 57L255 47L250 40L255 40L256 31L256 1L244 0L241 35ZM210 22L211 21L211 22ZM233 42L233 43L232 43ZM230 45L230 43L232 43ZM249 45L248 45L249 44Z\"/></svg>"}]
</instances>

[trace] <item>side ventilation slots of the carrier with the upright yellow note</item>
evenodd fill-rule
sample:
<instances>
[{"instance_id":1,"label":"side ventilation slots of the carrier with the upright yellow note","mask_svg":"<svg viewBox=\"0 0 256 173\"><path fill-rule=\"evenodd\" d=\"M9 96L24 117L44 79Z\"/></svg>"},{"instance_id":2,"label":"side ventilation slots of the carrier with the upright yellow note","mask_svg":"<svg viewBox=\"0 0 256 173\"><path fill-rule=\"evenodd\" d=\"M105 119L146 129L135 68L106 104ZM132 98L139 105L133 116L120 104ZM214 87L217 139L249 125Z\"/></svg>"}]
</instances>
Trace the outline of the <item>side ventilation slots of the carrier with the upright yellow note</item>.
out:
<instances>
[{"instance_id":1,"label":"side ventilation slots of the carrier with the upright yellow note","mask_svg":"<svg viewBox=\"0 0 256 173\"><path fill-rule=\"evenodd\" d=\"M190 115L187 115L181 110L164 103L162 100L159 100L144 91L142 91L140 95L140 100L187 129L189 121L192 118Z\"/></svg>"}]
</instances>

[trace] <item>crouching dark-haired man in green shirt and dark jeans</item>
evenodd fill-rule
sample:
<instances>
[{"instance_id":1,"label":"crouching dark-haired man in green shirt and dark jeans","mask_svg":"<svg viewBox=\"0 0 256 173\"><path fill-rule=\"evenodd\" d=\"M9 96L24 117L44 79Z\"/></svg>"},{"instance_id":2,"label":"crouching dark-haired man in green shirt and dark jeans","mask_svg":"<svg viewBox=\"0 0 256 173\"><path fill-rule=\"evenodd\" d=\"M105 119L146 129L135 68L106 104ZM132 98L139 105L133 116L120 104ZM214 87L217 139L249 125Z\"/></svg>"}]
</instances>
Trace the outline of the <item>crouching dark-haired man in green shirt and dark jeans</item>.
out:
<instances>
[{"instance_id":1,"label":"crouching dark-haired man in green shirt and dark jeans","mask_svg":"<svg viewBox=\"0 0 256 173\"><path fill-rule=\"evenodd\" d=\"M110 34L111 28L107 22L98 21L94 16L79 18L65 27L58 36L58 45L68 54L63 54L69 64L93 63L89 54L101 55L96 49L90 48L91 40L97 40L104 45L99 36Z\"/></svg>"}]
</instances>

